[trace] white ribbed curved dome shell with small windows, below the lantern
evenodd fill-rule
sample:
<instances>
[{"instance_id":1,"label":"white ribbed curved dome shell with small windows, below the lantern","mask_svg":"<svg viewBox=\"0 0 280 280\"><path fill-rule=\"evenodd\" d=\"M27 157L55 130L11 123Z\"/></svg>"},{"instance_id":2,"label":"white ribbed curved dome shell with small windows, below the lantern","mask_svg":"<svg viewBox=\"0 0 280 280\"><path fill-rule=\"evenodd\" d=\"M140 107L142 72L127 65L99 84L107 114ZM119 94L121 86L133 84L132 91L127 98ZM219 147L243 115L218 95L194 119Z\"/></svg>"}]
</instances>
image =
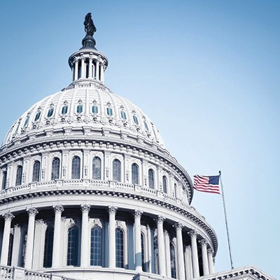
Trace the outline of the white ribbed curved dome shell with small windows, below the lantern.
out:
<instances>
[{"instance_id":1,"label":"white ribbed curved dome shell with small windows, below the lantern","mask_svg":"<svg viewBox=\"0 0 280 280\"><path fill-rule=\"evenodd\" d=\"M3 146L69 130L85 134L91 129L141 137L164 147L151 120L127 99L100 83L71 85L31 106L10 128ZM3 147L2 147L3 148Z\"/></svg>"}]
</instances>

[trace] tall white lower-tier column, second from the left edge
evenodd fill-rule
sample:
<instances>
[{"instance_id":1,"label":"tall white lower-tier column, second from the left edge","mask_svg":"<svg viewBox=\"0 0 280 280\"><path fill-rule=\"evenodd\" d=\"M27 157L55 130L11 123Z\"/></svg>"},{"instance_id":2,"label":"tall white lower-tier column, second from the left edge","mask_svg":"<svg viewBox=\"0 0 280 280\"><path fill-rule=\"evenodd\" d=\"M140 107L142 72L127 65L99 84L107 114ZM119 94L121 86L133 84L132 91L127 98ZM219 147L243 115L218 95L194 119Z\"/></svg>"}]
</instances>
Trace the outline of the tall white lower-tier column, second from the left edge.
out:
<instances>
[{"instance_id":1,"label":"tall white lower-tier column, second from the left edge","mask_svg":"<svg viewBox=\"0 0 280 280\"><path fill-rule=\"evenodd\" d=\"M29 216L28 219L28 228L27 228L27 247L25 254L25 268L32 268L32 258L33 258L33 244L34 244L34 228L35 228L35 216L38 214L38 211L34 207L27 208L27 213Z\"/></svg>"}]
</instances>

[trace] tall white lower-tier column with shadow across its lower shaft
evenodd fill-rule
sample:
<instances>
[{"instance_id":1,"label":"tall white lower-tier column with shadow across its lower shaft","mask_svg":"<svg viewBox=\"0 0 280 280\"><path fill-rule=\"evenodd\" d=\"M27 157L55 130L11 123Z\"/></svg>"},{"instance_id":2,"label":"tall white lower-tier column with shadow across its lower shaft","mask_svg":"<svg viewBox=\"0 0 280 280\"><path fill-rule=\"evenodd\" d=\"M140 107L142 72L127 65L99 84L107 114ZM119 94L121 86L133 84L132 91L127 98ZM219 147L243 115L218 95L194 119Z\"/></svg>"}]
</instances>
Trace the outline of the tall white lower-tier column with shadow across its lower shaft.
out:
<instances>
[{"instance_id":1,"label":"tall white lower-tier column with shadow across its lower shaft","mask_svg":"<svg viewBox=\"0 0 280 280\"><path fill-rule=\"evenodd\" d=\"M134 238L135 238L135 270L142 271L142 254L141 254L141 215L143 211L134 210Z\"/></svg>"}]
</instances>

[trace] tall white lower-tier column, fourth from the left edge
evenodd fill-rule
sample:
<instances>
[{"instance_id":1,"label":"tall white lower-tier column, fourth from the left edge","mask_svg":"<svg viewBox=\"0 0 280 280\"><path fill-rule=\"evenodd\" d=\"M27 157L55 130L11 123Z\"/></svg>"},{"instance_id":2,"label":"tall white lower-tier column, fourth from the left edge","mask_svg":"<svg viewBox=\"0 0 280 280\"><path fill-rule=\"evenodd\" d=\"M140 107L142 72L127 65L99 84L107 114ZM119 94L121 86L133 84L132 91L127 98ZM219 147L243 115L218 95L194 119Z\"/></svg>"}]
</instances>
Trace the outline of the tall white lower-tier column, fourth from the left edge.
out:
<instances>
[{"instance_id":1,"label":"tall white lower-tier column, fourth from the left edge","mask_svg":"<svg viewBox=\"0 0 280 280\"><path fill-rule=\"evenodd\" d=\"M81 234L81 242L80 242L80 266L86 267L88 265L88 212L90 211L90 205L82 204L80 205L80 209L82 210L82 234Z\"/></svg>"}]
</instances>

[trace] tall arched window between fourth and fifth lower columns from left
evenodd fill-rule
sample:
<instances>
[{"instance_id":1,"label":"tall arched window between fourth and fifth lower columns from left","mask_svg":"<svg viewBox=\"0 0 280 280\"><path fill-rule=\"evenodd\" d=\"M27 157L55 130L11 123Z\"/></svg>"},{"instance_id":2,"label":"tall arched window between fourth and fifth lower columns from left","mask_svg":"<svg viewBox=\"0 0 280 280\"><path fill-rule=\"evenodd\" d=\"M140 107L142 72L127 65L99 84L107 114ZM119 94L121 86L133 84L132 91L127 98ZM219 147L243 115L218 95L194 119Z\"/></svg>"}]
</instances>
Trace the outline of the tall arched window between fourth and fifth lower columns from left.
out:
<instances>
[{"instance_id":1,"label":"tall arched window between fourth and fifth lower columns from left","mask_svg":"<svg viewBox=\"0 0 280 280\"><path fill-rule=\"evenodd\" d=\"M90 235L90 265L102 266L102 228L94 225Z\"/></svg>"}]
</instances>

